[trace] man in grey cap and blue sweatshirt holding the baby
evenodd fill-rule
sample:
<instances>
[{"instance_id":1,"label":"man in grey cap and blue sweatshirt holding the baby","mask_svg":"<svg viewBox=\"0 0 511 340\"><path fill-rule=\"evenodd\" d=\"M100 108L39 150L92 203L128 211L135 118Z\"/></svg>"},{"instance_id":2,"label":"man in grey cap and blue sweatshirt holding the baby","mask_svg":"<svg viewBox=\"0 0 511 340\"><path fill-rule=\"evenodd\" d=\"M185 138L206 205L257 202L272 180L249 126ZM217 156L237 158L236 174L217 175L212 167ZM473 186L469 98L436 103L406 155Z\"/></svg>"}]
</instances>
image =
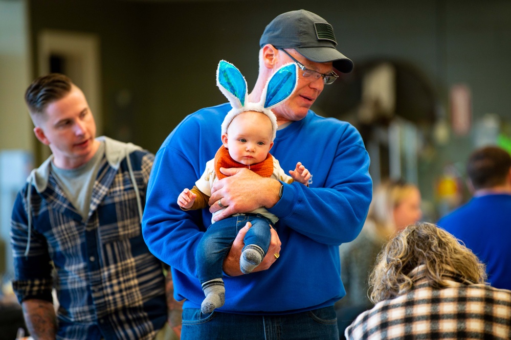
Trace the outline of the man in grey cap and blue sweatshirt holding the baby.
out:
<instances>
[{"instance_id":1,"label":"man in grey cap and blue sweatshirt holding the baby","mask_svg":"<svg viewBox=\"0 0 511 340\"><path fill-rule=\"evenodd\" d=\"M310 110L324 86L336 80L334 69L353 68L336 46L333 28L320 16L304 10L280 14L261 36L259 75L249 95L258 102L283 64L301 69L293 95L273 109L278 131L272 153L284 169L307 164L314 174L309 187L222 168L228 177L213 186L209 211L180 209L177 196L193 186L221 143L229 103L186 117L156 154L143 235L151 252L172 267L175 298L185 300L182 339L339 339L334 303L345 295L339 245L359 234L372 182L359 132ZM247 275L239 269L239 256L249 226L240 226L224 260L225 305L203 314L194 254L211 214L223 207L215 220L264 207L279 221L268 255Z\"/></svg>"}]
</instances>

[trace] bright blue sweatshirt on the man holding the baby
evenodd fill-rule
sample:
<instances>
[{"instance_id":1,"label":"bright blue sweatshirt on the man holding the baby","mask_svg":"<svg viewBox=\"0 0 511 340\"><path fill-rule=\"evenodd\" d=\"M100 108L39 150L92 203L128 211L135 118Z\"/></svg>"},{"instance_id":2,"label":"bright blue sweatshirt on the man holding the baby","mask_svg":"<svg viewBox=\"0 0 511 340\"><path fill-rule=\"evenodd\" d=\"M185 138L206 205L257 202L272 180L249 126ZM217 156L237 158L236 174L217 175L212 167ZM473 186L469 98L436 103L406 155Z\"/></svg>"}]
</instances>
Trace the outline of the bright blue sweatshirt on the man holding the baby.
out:
<instances>
[{"instance_id":1,"label":"bright blue sweatshirt on the man holding the baby","mask_svg":"<svg viewBox=\"0 0 511 340\"><path fill-rule=\"evenodd\" d=\"M214 157L230 108L218 105L186 117L163 142L149 179L142 232L151 252L172 267L174 295L186 299L184 308L200 308L204 299L194 255L211 213L182 211L176 200ZM279 217L279 260L268 270L225 276L226 303L219 311L293 313L331 306L345 295L339 244L357 237L372 196L369 156L359 132L309 111L277 131L271 152L286 171L302 162L313 183L284 184L282 198L269 209Z\"/></svg>"}]
</instances>

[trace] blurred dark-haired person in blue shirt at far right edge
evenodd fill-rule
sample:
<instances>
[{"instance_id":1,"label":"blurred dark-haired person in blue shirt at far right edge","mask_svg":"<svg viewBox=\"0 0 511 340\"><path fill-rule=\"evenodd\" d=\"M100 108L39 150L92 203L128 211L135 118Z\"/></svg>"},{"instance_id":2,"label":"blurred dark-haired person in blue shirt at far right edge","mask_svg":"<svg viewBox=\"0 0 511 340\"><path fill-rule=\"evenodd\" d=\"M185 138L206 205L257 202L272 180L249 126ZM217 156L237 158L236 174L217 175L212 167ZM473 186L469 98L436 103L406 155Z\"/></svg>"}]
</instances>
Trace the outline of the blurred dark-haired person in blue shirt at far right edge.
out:
<instances>
[{"instance_id":1,"label":"blurred dark-haired person in blue shirt at far right edge","mask_svg":"<svg viewBox=\"0 0 511 340\"><path fill-rule=\"evenodd\" d=\"M473 197L438 225L470 248L486 265L488 282L511 289L511 156L497 146L472 152L466 165Z\"/></svg>"}]
</instances>

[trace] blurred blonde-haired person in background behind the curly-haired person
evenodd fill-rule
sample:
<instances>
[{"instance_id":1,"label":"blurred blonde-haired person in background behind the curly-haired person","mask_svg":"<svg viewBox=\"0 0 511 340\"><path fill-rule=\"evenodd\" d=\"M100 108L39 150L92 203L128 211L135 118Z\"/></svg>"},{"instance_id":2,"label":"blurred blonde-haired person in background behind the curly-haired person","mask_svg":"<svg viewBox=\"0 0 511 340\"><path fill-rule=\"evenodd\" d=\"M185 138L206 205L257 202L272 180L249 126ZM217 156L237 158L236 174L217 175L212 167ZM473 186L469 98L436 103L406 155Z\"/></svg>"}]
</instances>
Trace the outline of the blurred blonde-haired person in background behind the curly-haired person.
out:
<instances>
[{"instance_id":1,"label":"blurred blonde-haired person in background behind the curly-haired person","mask_svg":"<svg viewBox=\"0 0 511 340\"><path fill-rule=\"evenodd\" d=\"M339 247L341 279L346 296L336 303L339 336L361 312L372 308L369 274L382 246L398 231L420 220L419 189L402 180L387 180L376 187L359 236Z\"/></svg>"}]
</instances>

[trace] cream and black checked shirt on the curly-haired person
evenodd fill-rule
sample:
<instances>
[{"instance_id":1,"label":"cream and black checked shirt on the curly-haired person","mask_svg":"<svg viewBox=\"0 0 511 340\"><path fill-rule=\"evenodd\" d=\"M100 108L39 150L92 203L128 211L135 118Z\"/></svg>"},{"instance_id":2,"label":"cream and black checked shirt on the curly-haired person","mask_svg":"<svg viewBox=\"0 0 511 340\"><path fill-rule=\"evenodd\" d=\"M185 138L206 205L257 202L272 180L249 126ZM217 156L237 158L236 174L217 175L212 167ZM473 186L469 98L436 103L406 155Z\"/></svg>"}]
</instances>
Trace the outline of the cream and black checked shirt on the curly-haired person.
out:
<instances>
[{"instance_id":1,"label":"cream and black checked shirt on the curly-haired person","mask_svg":"<svg viewBox=\"0 0 511 340\"><path fill-rule=\"evenodd\" d=\"M347 339L511 339L511 291L485 285L435 289L418 282L363 312Z\"/></svg>"}]
</instances>

